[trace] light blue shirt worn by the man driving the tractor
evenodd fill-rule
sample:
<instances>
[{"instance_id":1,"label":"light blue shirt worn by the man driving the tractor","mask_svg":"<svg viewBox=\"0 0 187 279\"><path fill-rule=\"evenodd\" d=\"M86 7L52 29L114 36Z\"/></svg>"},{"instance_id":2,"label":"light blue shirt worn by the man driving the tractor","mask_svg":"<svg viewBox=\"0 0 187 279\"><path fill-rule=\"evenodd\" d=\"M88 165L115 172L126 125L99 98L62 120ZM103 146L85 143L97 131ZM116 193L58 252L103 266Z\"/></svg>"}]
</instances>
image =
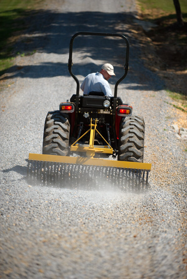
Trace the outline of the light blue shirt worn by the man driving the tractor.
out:
<instances>
[{"instance_id":1,"label":"light blue shirt worn by the man driving the tractor","mask_svg":"<svg viewBox=\"0 0 187 279\"><path fill-rule=\"evenodd\" d=\"M83 90L83 94L96 91L103 92L107 96L113 96L108 81L98 72L86 76L80 88Z\"/></svg>"}]
</instances>

